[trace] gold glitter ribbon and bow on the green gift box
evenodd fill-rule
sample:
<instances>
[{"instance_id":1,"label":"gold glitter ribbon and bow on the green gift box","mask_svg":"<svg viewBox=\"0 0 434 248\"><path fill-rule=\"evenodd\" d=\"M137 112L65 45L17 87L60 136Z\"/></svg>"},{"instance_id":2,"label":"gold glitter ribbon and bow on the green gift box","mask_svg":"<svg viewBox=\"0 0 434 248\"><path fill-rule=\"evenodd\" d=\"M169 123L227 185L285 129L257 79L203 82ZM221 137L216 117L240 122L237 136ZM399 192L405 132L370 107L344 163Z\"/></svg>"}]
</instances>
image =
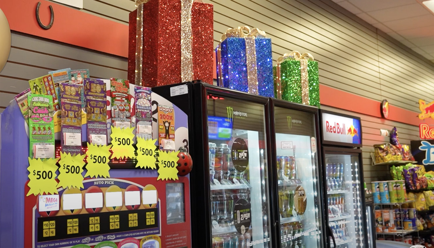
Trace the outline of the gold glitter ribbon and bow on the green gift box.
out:
<instances>
[{"instance_id":1,"label":"gold glitter ribbon and bow on the green gift box","mask_svg":"<svg viewBox=\"0 0 434 248\"><path fill-rule=\"evenodd\" d=\"M276 66L276 87L277 98L282 99L282 86L280 79L280 63L286 60L298 60L300 61L300 77L301 77L301 89L302 89L302 104L309 105L309 78L307 73L307 62L313 61L314 58L310 53L299 53L293 51L291 53L285 53L277 59Z\"/></svg>"}]
</instances>

